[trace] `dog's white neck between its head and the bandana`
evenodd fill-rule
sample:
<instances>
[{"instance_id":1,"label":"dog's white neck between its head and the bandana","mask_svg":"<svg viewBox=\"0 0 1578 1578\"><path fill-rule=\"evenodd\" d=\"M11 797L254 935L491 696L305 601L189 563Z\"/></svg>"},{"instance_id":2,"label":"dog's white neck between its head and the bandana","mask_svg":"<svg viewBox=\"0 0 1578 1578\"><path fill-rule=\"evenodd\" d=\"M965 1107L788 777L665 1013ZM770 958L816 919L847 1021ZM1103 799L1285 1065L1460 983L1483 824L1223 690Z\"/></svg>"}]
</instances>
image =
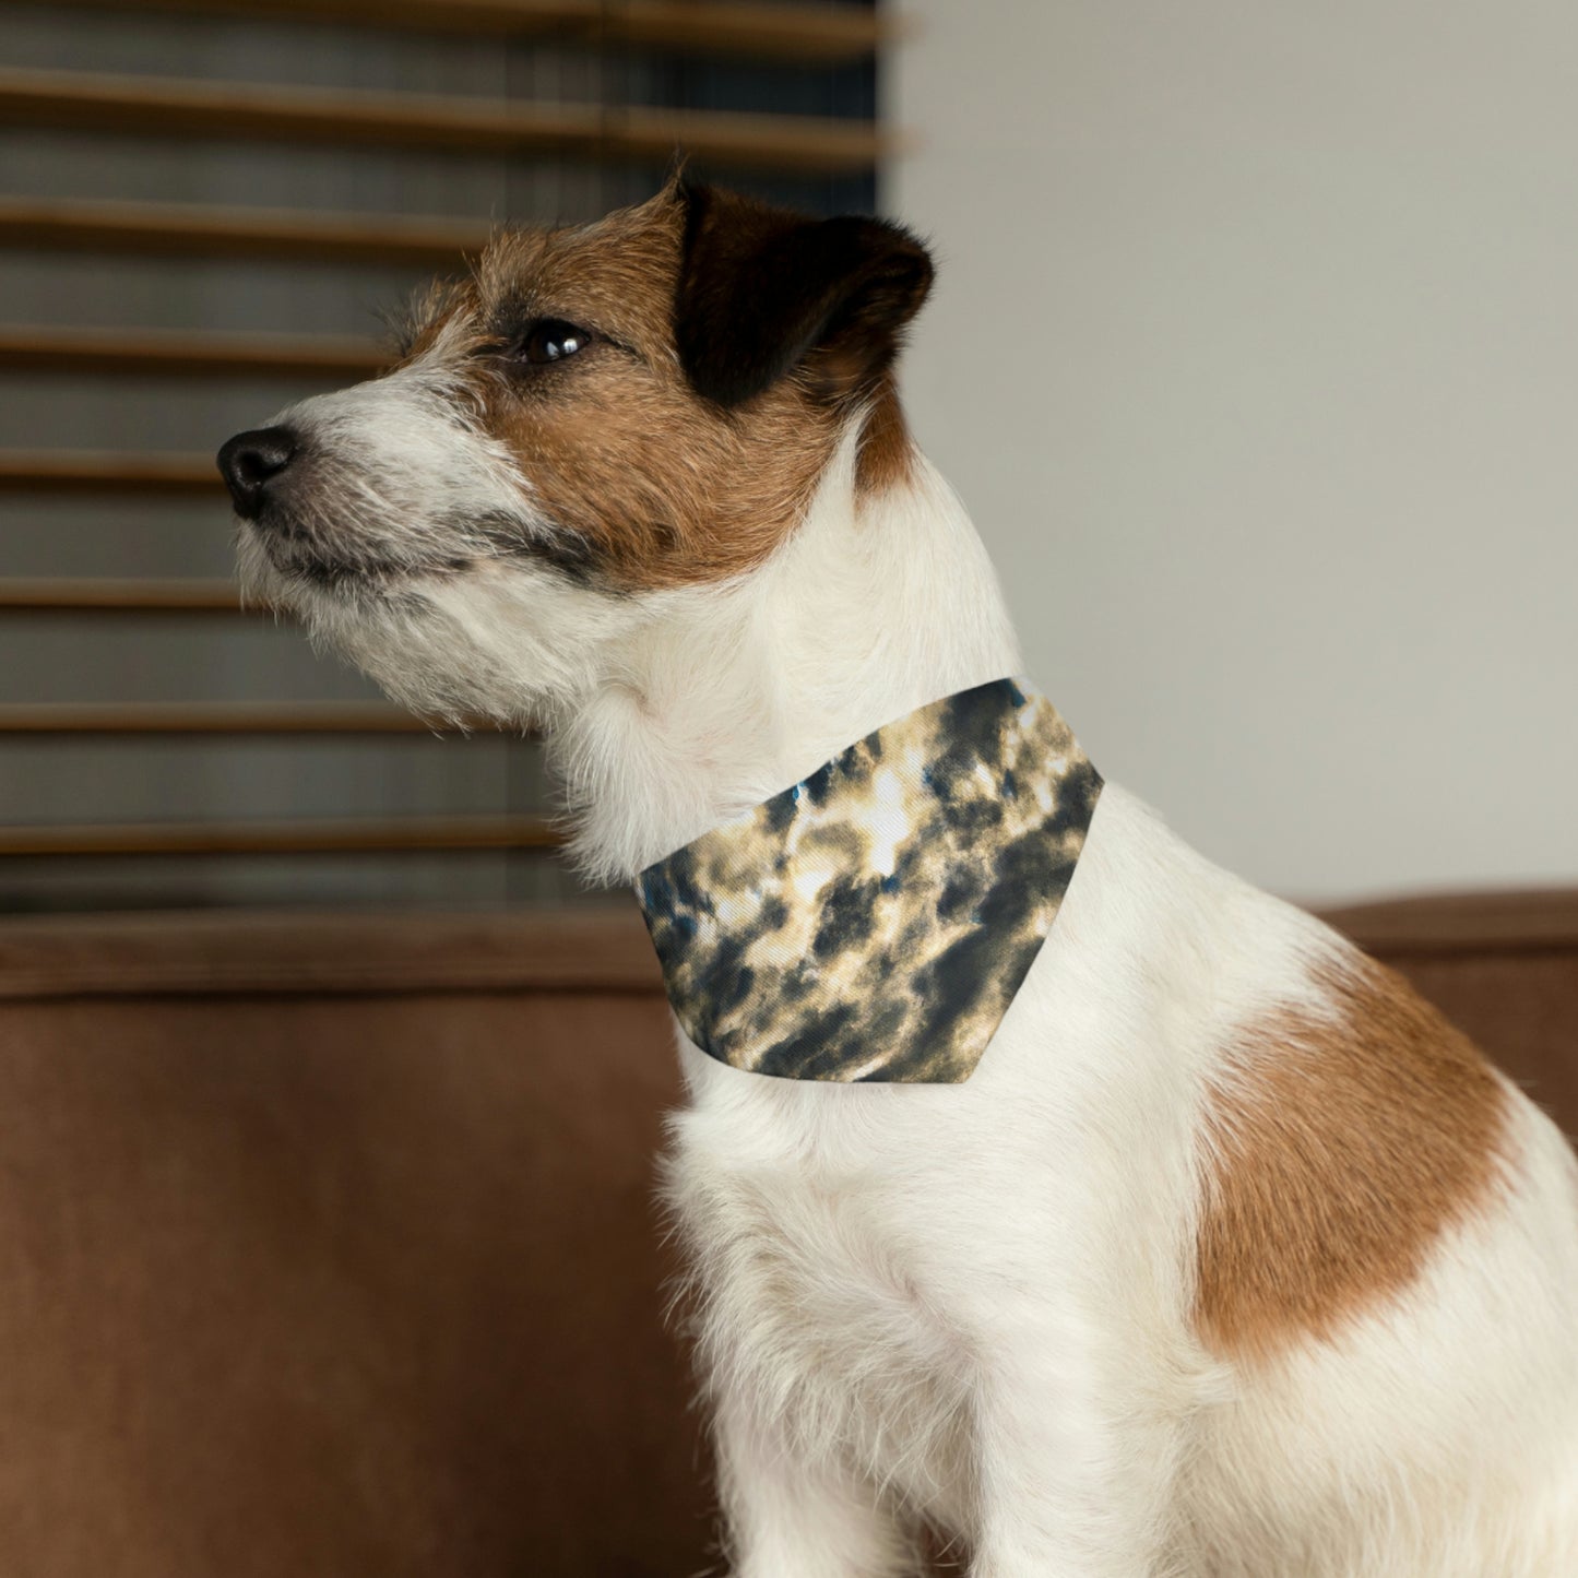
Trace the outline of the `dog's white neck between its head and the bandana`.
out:
<instances>
[{"instance_id":1,"label":"dog's white neck between its head and the bandana","mask_svg":"<svg viewBox=\"0 0 1578 1578\"><path fill-rule=\"evenodd\" d=\"M1015 674L975 529L915 456L881 494L854 436L795 535L726 587L660 593L551 739L589 874L630 881L939 696Z\"/></svg>"}]
</instances>

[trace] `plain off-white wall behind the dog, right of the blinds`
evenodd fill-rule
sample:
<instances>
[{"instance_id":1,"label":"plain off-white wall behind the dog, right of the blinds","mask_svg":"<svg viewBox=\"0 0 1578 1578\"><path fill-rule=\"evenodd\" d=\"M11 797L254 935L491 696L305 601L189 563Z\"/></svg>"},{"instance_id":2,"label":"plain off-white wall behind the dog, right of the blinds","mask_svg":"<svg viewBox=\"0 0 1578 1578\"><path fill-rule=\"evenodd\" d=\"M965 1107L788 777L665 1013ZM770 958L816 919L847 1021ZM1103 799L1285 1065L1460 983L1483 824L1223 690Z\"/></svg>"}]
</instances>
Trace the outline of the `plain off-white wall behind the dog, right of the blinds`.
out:
<instances>
[{"instance_id":1,"label":"plain off-white wall behind the dog, right of the blinds","mask_svg":"<svg viewBox=\"0 0 1578 1578\"><path fill-rule=\"evenodd\" d=\"M1300 898L1578 881L1578 6L901 9L912 423L1097 765Z\"/></svg>"}]
</instances>

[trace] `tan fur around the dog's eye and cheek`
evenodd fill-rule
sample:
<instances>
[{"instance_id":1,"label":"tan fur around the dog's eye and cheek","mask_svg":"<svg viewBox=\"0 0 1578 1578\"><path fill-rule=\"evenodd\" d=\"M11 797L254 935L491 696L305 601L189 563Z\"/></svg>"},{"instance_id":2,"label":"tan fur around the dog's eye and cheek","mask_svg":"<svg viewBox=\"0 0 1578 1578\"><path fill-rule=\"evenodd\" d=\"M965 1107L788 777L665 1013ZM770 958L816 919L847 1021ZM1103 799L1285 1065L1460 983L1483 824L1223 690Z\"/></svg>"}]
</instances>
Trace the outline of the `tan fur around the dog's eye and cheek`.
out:
<instances>
[{"instance_id":1,"label":"tan fur around the dog's eye and cheek","mask_svg":"<svg viewBox=\"0 0 1578 1578\"><path fill-rule=\"evenodd\" d=\"M625 589L715 581L761 563L798 522L838 437L795 377L721 410L674 346L683 215L672 193L570 230L513 230L424 323L415 355L458 372L529 499L585 570ZM541 320L590 333L546 366Z\"/></svg>"}]
</instances>

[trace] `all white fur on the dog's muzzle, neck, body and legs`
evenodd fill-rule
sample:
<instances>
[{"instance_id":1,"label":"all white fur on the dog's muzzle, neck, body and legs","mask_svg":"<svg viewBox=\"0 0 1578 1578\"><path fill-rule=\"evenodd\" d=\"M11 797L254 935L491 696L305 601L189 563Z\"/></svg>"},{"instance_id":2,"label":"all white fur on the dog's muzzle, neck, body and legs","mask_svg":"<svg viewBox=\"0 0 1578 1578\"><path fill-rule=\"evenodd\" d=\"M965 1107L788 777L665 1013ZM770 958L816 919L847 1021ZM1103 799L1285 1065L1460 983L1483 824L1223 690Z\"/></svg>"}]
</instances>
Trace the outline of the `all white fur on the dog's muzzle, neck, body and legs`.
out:
<instances>
[{"instance_id":1,"label":"all white fur on the dog's muzzle, neck, body and legs","mask_svg":"<svg viewBox=\"0 0 1578 1578\"><path fill-rule=\"evenodd\" d=\"M423 361L287 420L380 478L365 503L407 548L492 494L551 530ZM546 718L581 858L630 879L879 724L1019 672L958 499L923 461L862 492L858 423L798 529L721 585L608 598L519 560L424 581L418 551L402 609L243 559L418 709ZM1578 1179L1521 1095L1504 1188L1403 1297L1269 1365L1191 1322L1207 1095L1234 1032L1326 1011L1344 958L1109 786L967 1084L767 1079L682 1037L669 1198L742 1578L911 1572L917 1516L958 1531L975 1578L1578 1572Z\"/></svg>"}]
</instances>

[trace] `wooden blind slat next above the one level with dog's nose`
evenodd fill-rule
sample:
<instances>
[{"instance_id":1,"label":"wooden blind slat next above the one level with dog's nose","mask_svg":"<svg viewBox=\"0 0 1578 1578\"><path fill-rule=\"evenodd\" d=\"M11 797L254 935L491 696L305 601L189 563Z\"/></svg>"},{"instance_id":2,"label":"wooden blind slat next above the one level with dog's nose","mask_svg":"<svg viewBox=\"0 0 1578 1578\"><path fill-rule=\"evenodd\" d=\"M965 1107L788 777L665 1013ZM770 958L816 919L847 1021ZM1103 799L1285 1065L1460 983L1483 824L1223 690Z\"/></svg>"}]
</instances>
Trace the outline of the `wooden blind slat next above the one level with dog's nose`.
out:
<instances>
[{"instance_id":1,"label":"wooden blind slat next above the one level with dog's nose","mask_svg":"<svg viewBox=\"0 0 1578 1578\"><path fill-rule=\"evenodd\" d=\"M390 361L372 339L0 323L0 369L161 377L365 379Z\"/></svg>"}]
</instances>

